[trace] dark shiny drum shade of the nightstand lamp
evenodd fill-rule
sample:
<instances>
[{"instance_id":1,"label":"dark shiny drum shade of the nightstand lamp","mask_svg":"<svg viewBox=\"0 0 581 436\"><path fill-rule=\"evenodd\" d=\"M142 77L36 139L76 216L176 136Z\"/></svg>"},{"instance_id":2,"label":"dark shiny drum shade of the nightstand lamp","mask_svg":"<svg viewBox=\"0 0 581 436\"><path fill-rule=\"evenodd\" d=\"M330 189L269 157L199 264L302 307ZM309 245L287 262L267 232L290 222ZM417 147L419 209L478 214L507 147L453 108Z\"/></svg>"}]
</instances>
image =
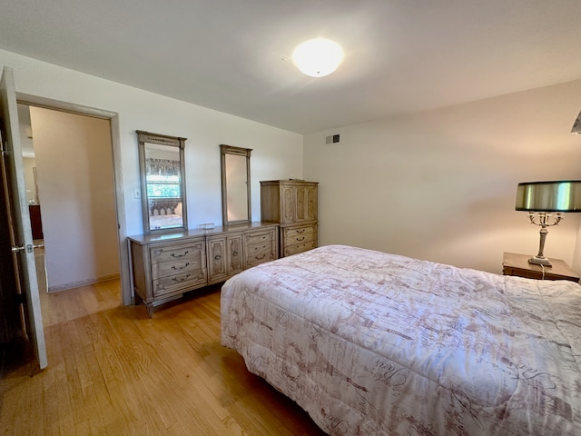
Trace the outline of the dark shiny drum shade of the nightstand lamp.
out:
<instances>
[{"instance_id":1,"label":"dark shiny drum shade of the nightstand lamp","mask_svg":"<svg viewBox=\"0 0 581 436\"><path fill-rule=\"evenodd\" d=\"M518 183L517 211L581 212L581 180Z\"/></svg>"}]
</instances>

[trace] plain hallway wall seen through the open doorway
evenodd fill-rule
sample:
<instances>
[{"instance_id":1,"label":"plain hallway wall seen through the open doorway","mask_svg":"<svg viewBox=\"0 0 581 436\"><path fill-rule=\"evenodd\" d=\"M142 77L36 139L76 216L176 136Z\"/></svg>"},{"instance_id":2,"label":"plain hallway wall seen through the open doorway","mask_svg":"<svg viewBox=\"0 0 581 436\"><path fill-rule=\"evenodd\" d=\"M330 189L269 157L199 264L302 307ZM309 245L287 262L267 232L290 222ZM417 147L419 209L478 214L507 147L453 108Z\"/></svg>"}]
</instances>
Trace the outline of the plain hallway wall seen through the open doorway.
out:
<instances>
[{"instance_id":1,"label":"plain hallway wall seen through the open doorway","mask_svg":"<svg viewBox=\"0 0 581 436\"><path fill-rule=\"evenodd\" d=\"M119 275L109 120L30 108L48 291Z\"/></svg>"}]
</instances>

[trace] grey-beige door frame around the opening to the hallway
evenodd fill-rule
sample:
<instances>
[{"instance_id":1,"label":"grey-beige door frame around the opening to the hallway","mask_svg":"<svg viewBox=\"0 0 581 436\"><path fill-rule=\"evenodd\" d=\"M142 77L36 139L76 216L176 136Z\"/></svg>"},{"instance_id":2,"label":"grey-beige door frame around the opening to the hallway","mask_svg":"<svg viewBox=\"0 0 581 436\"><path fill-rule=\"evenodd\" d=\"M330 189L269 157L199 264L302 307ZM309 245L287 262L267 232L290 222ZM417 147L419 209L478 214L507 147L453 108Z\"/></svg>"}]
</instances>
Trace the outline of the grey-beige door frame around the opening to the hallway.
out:
<instances>
[{"instance_id":1,"label":"grey-beige door frame around the opening to the hallway","mask_svg":"<svg viewBox=\"0 0 581 436\"><path fill-rule=\"evenodd\" d=\"M123 305L132 303L133 292L131 289L131 277L129 266L129 252L124 249L127 244L125 201L123 193L123 165L121 159L121 136L119 134L119 114L116 112L97 109L82 104L73 104L53 100L51 98L40 97L38 95L16 93L18 104L28 104L30 106L43 107L54 111L68 112L71 114L81 114L103 118L109 120L111 128L111 144L113 152L113 184L115 197L115 212L117 217L117 242L119 243L119 263L121 278L121 301Z\"/></svg>"}]
</instances>

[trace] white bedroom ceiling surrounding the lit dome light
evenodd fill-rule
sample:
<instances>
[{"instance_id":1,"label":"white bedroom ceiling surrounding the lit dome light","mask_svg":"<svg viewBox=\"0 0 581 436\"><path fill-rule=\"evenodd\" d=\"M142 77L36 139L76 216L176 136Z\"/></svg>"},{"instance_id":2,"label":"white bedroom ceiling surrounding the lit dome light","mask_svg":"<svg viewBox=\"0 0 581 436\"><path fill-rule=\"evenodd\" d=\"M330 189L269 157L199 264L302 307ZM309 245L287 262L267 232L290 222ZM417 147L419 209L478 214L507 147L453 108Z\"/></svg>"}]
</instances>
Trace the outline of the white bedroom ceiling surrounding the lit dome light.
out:
<instances>
[{"instance_id":1,"label":"white bedroom ceiling surrounding the lit dome light","mask_svg":"<svg viewBox=\"0 0 581 436\"><path fill-rule=\"evenodd\" d=\"M307 134L579 79L579 6L0 0L0 48ZM288 60L313 37L342 45L334 74L310 78Z\"/></svg>"}]
</instances>

